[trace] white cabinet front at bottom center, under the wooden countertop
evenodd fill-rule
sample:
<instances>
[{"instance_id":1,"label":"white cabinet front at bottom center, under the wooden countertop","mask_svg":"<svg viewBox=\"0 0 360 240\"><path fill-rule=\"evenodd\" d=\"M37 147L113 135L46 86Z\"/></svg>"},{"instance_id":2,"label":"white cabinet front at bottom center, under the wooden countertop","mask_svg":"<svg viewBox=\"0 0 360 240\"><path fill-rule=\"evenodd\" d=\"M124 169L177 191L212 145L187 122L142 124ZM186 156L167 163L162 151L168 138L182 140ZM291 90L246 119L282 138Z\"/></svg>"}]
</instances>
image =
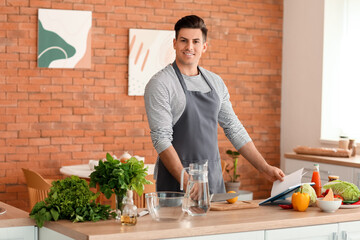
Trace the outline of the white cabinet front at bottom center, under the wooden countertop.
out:
<instances>
[{"instance_id":1,"label":"white cabinet front at bottom center, under the wooden countertop","mask_svg":"<svg viewBox=\"0 0 360 240\"><path fill-rule=\"evenodd\" d=\"M196 237L185 237L185 238L173 238L176 240L264 240L264 231L253 231L253 232L240 232L240 233L226 233L226 234L215 234L215 235L204 235Z\"/></svg>"}]
</instances>

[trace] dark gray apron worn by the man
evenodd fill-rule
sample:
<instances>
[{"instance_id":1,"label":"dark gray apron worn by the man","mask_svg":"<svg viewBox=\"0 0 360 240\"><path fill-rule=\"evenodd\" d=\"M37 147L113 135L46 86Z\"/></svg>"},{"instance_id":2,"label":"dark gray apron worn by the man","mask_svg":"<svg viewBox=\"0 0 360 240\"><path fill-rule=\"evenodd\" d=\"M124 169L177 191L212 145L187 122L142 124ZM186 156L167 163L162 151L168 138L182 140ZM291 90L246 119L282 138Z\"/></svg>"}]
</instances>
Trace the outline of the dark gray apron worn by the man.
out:
<instances>
[{"instance_id":1,"label":"dark gray apron worn by the man","mask_svg":"<svg viewBox=\"0 0 360 240\"><path fill-rule=\"evenodd\" d=\"M208 161L210 193L224 193L224 179L218 148L218 109L220 100L213 86L204 74L210 91L188 91L181 72L175 61L172 64L186 97L183 114L173 127L172 145L183 167L190 163L204 164ZM180 192L180 184L169 173L161 159L158 161L156 191Z\"/></svg>"}]
</instances>

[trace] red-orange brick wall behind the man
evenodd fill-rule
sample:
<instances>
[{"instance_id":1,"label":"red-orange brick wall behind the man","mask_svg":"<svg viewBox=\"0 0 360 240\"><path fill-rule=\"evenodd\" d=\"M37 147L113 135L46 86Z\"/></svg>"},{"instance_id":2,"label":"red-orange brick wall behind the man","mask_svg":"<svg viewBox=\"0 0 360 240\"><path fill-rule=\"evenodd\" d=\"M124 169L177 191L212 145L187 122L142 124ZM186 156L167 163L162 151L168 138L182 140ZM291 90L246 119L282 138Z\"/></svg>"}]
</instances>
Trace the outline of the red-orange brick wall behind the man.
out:
<instances>
[{"instance_id":1,"label":"red-orange brick wall behind the man","mask_svg":"<svg viewBox=\"0 0 360 240\"><path fill-rule=\"evenodd\" d=\"M128 29L173 28L197 14L209 28L201 65L222 76L236 114L279 165L281 0L0 0L0 201L28 210L22 167L60 177L62 165L123 151L154 163L142 97L127 95ZM92 11L91 69L37 68L39 8ZM219 147L232 149L219 130ZM271 184L241 160L242 189Z\"/></svg>"}]
</instances>

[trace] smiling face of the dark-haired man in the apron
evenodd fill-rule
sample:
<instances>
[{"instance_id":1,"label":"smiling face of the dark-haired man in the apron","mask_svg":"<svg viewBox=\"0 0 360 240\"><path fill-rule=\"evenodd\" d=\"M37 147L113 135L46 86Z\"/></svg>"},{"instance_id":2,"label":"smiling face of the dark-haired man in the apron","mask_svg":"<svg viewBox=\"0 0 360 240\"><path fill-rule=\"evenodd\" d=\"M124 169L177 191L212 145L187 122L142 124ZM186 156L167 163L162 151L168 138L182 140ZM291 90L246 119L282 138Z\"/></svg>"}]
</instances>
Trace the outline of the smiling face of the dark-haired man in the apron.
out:
<instances>
[{"instance_id":1,"label":"smiling face of the dark-haired man in the apron","mask_svg":"<svg viewBox=\"0 0 360 240\"><path fill-rule=\"evenodd\" d=\"M201 55L207 49L207 43L203 41L203 35L198 28L182 28L174 39L176 51L176 64L185 75L197 75L197 66Z\"/></svg>"}]
</instances>

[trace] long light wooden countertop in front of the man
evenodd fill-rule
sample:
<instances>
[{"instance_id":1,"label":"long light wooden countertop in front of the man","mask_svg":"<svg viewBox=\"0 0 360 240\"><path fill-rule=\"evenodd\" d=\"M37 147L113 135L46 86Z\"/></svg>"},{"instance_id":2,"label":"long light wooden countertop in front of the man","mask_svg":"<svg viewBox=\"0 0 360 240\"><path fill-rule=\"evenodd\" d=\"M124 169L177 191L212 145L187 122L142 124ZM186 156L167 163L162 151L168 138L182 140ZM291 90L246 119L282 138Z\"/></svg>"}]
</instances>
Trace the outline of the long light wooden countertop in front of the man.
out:
<instances>
[{"instance_id":1,"label":"long light wooden countertop in front of the man","mask_svg":"<svg viewBox=\"0 0 360 240\"><path fill-rule=\"evenodd\" d=\"M48 222L47 228L76 239L159 239L232 232L247 232L317 224L359 221L360 208L335 213L309 207L306 212L281 209L277 205L234 211L210 211L206 216L186 216L179 222L156 222L147 215L136 226L121 226L115 220L72 223Z\"/></svg>"}]
</instances>

